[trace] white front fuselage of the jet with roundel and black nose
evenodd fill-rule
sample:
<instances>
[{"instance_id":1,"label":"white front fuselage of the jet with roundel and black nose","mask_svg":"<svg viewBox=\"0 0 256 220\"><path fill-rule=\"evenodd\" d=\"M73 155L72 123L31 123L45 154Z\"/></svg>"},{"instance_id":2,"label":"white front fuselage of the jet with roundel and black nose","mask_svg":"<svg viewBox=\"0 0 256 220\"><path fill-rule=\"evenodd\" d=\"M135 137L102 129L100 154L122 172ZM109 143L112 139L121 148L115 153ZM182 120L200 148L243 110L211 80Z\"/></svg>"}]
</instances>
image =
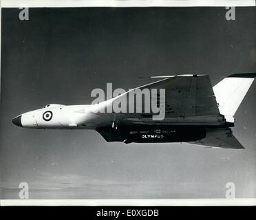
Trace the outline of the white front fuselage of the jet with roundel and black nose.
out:
<instances>
[{"instance_id":1,"label":"white front fuselage of the jet with roundel and black nose","mask_svg":"<svg viewBox=\"0 0 256 220\"><path fill-rule=\"evenodd\" d=\"M110 124L107 118L102 120L93 112L95 106L47 104L42 109L18 115L12 122L32 129L95 129L97 124Z\"/></svg>"}]
</instances>

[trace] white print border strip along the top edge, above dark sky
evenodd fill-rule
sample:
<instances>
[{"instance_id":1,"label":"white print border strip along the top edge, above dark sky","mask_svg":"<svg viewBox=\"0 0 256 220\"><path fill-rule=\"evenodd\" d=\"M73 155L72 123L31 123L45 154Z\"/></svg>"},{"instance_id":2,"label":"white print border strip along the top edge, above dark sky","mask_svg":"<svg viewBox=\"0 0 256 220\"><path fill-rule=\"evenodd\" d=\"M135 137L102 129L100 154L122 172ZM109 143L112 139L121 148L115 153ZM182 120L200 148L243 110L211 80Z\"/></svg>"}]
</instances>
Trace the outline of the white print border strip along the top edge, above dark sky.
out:
<instances>
[{"instance_id":1,"label":"white print border strip along the top edge, above dark sky","mask_svg":"<svg viewBox=\"0 0 256 220\"><path fill-rule=\"evenodd\" d=\"M255 0L1 0L2 8L255 6Z\"/></svg>"}]
</instances>

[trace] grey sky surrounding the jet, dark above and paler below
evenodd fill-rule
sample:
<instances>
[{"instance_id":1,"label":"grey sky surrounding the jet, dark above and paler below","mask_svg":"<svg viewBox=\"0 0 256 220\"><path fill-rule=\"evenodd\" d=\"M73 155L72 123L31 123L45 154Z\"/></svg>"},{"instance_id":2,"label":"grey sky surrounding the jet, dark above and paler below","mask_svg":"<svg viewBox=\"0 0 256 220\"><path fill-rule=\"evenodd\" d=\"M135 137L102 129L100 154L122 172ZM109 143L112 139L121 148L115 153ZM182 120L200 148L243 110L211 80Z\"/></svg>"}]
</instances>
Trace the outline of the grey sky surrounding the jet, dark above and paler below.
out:
<instances>
[{"instance_id":1,"label":"grey sky surrounding the jet, dark above and paler below","mask_svg":"<svg viewBox=\"0 0 256 220\"><path fill-rule=\"evenodd\" d=\"M2 9L0 198L222 198L256 196L253 83L236 113L244 150L193 144L107 143L96 131L21 129L14 116L48 103L90 104L94 88L129 89L139 76L256 71L255 8Z\"/></svg>"}]
</instances>

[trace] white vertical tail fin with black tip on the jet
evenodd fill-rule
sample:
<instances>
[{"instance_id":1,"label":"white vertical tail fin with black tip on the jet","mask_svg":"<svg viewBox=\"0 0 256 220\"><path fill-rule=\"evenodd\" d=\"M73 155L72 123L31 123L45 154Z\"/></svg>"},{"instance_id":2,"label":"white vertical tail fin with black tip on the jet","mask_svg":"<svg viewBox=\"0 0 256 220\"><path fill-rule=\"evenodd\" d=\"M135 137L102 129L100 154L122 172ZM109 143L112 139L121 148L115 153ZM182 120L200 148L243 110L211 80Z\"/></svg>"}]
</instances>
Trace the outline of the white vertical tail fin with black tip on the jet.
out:
<instances>
[{"instance_id":1,"label":"white vertical tail fin with black tip on the jet","mask_svg":"<svg viewBox=\"0 0 256 220\"><path fill-rule=\"evenodd\" d=\"M233 74L213 87L222 115L235 115L256 74Z\"/></svg>"}]
</instances>

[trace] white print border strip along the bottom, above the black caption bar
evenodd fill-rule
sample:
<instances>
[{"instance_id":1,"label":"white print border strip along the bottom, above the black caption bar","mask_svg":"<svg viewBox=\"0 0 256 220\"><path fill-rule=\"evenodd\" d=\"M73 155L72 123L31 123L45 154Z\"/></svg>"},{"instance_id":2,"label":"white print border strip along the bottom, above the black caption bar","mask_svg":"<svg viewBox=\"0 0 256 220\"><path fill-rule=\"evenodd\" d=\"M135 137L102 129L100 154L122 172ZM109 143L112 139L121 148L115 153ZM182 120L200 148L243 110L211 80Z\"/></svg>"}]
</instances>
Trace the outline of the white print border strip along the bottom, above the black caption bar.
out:
<instances>
[{"instance_id":1,"label":"white print border strip along the bottom, above the black caption bar","mask_svg":"<svg viewBox=\"0 0 256 220\"><path fill-rule=\"evenodd\" d=\"M256 199L1 199L0 206L256 206Z\"/></svg>"}]
</instances>

